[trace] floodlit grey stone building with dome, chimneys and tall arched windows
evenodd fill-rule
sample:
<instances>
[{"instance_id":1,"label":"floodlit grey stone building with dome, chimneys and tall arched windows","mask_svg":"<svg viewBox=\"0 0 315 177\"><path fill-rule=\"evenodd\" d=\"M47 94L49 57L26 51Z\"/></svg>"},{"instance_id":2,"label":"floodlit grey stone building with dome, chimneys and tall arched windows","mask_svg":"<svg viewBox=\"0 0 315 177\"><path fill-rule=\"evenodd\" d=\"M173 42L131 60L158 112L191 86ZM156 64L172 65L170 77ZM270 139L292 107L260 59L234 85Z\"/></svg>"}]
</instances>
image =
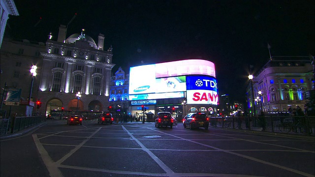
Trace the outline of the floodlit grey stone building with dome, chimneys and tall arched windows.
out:
<instances>
[{"instance_id":1,"label":"floodlit grey stone building with dome, chimneys and tall arched windows","mask_svg":"<svg viewBox=\"0 0 315 177\"><path fill-rule=\"evenodd\" d=\"M103 111L109 105L112 48L104 50L104 35L98 44L85 30L65 38L61 25L57 41L52 34L46 42L38 99L45 105L39 111ZM76 94L81 94L77 97Z\"/></svg>"}]
</instances>

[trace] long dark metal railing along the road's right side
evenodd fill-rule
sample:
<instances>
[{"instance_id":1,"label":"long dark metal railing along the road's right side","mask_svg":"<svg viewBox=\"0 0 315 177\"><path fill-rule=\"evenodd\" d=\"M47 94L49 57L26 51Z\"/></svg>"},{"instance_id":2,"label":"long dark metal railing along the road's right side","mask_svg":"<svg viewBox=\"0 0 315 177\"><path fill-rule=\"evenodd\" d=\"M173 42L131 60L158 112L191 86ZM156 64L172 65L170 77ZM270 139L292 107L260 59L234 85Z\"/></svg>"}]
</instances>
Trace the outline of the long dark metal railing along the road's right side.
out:
<instances>
[{"instance_id":1,"label":"long dark metal railing along the road's right side","mask_svg":"<svg viewBox=\"0 0 315 177\"><path fill-rule=\"evenodd\" d=\"M275 133L315 134L314 116L264 116L210 118L210 126Z\"/></svg>"}]
</instances>

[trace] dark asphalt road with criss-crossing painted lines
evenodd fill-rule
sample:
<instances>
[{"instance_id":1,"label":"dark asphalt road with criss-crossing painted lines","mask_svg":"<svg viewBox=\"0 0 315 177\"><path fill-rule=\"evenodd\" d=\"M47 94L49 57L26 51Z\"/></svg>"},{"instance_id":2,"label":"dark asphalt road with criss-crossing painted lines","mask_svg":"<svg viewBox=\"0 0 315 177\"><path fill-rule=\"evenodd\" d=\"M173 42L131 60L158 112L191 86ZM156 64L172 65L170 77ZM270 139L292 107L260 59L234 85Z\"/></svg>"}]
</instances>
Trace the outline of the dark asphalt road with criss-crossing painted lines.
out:
<instances>
[{"instance_id":1,"label":"dark asphalt road with criss-crossing painted lines","mask_svg":"<svg viewBox=\"0 0 315 177\"><path fill-rule=\"evenodd\" d=\"M1 177L314 177L314 137L49 120L0 142Z\"/></svg>"}]
</instances>

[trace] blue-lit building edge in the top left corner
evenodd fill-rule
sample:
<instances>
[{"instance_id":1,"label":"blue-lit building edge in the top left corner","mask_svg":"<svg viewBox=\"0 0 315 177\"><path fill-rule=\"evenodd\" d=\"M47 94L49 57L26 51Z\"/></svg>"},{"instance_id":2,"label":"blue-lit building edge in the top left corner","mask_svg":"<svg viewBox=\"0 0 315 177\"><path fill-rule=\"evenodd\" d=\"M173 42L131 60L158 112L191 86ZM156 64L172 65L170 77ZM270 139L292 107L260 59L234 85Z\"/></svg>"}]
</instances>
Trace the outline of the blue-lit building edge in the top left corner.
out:
<instances>
[{"instance_id":1,"label":"blue-lit building edge in the top left corner","mask_svg":"<svg viewBox=\"0 0 315 177\"><path fill-rule=\"evenodd\" d=\"M0 48L1 48L3 34L6 27L6 21L9 19L9 15L18 16L19 12L15 6L14 0L1 0L0 2L1 2L0 3Z\"/></svg>"}]
</instances>

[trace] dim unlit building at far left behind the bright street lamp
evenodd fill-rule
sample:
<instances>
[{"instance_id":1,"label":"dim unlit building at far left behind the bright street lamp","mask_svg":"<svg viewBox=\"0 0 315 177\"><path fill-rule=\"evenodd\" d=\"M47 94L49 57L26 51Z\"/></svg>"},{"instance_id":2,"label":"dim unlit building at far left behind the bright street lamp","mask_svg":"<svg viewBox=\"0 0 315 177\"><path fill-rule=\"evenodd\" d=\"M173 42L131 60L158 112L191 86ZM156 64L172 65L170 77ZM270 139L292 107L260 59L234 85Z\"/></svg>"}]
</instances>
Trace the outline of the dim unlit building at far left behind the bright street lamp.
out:
<instances>
[{"instance_id":1,"label":"dim unlit building at far left behind the bright street lamp","mask_svg":"<svg viewBox=\"0 0 315 177\"><path fill-rule=\"evenodd\" d=\"M1 115L6 117L17 114L25 116L29 100L37 100L40 76L42 71L43 59L40 53L46 51L45 43L30 42L27 39L17 40L4 38L2 41L0 63L1 63ZM30 69L36 65L37 75L33 81L31 92L32 74ZM21 89L21 103L13 106L6 103L6 95L9 89ZM29 99L31 95L31 99ZM8 105L6 105L8 104Z\"/></svg>"}]
</instances>

